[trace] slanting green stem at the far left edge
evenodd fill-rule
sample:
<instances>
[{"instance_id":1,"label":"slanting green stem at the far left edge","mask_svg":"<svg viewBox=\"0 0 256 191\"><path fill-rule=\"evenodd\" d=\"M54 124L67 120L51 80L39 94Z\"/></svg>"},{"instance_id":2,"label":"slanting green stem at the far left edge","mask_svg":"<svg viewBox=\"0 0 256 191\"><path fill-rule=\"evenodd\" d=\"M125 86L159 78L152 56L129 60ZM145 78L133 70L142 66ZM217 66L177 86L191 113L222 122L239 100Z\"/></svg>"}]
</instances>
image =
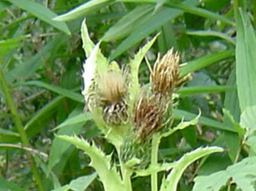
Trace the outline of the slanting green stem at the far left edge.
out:
<instances>
[{"instance_id":1,"label":"slanting green stem at the far left edge","mask_svg":"<svg viewBox=\"0 0 256 191\"><path fill-rule=\"evenodd\" d=\"M16 126L19 134L20 134L20 139L21 139L22 145L29 147L29 141L28 141L28 138L27 138L26 131L23 128L22 122L20 120L20 116L19 116L18 111L17 111L17 109L15 107L15 104L13 102L13 99L12 99L12 96L11 96L11 93L10 93L10 89L7 86L7 82L5 80L5 76L4 76L4 73L3 73L2 70L0 70L0 86L2 88L4 97L6 99L7 106L10 109L14 124L15 124L15 126ZM39 172L37 170L37 167L35 165L35 162L34 162L34 159L31 155L31 153L27 152L27 158L30 162L31 171L32 171L32 173L34 175L34 178L36 180L36 183L38 185L38 190L39 191L44 191L43 184L41 182Z\"/></svg>"}]
</instances>

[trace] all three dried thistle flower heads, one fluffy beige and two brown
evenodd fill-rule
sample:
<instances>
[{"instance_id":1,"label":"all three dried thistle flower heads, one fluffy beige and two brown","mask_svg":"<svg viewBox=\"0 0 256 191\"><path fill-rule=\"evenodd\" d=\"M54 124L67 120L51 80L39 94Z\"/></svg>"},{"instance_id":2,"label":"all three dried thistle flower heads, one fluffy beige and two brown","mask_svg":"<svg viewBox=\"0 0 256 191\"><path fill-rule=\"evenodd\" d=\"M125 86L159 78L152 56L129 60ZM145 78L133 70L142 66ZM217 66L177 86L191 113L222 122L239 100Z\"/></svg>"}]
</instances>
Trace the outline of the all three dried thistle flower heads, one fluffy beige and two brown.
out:
<instances>
[{"instance_id":1,"label":"all three dried thistle flower heads, one fluffy beige and two brown","mask_svg":"<svg viewBox=\"0 0 256 191\"><path fill-rule=\"evenodd\" d=\"M90 108L101 108L102 119L108 125L131 122L136 140L146 140L163 127L163 118L172 93L179 81L179 54L170 49L162 58L158 55L153 70L150 68L150 88L141 92L134 102L132 114L128 114L129 79L124 70L107 70L96 73L92 93L86 100Z\"/></svg>"}]
</instances>

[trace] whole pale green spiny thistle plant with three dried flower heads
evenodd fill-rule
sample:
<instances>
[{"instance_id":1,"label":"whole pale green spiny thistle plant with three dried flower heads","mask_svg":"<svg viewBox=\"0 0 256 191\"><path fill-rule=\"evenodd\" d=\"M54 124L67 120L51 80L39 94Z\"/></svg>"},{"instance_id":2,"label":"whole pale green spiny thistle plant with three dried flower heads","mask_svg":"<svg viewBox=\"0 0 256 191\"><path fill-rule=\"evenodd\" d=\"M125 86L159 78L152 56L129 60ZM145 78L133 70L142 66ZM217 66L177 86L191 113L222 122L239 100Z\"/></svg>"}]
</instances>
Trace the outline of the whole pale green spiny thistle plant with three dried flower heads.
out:
<instances>
[{"instance_id":1,"label":"whole pale green spiny thistle plant with three dried flower heads","mask_svg":"<svg viewBox=\"0 0 256 191\"><path fill-rule=\"evenodd\" d=\"M83 64L82 94L101 134L115 146L119 162L111 163L111 154L106 155L87 140L69 136L59 138L85 151L106 191L131 191L132 175L150 176L151 191L157 191L157 172L169 170L171 172L162 179L160 191L175 191L189 164L204 155L223 151L215 146L198 148L178 161L160 164L157 155L162 137L195 125L199 118L198 115L192 121L181 121L171 127L175 109L173 95L184 81L179 76L179 54L171 49L163 57L159 55L153 69L149 67L149 84L140 87L138 70L157 36L137 52L126 69L120 69L115 61L109 62L101 54L100 42L94 45L91 41L85 21L81 37L87 56Z\"/></svg>"}]
</instances>

